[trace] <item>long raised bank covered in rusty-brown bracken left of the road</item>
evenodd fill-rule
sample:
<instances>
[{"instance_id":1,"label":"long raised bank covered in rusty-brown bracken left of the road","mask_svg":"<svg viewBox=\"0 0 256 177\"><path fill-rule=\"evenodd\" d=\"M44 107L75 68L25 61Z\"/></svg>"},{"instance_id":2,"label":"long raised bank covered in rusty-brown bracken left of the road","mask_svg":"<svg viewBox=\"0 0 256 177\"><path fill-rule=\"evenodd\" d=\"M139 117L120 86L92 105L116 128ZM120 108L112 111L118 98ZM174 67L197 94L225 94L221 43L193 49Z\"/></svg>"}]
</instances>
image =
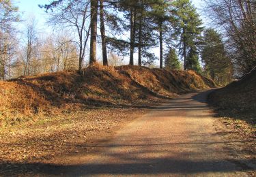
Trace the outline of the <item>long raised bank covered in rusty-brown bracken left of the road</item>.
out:
<instances>
[{"instance_id":1,"label":"long raised bank covered in rusty-brown bracken left of the road","mask_svg":"<svg viewBox=\"0 0 256 177\"><path fill-rule=\"evenodd\" d=\"M171 98L214 82L195 71L138 66L88 67L82 74L60 71L0 82L0 124L72 112L92 106L131 108Z\"/></svg>"}]
</instances>

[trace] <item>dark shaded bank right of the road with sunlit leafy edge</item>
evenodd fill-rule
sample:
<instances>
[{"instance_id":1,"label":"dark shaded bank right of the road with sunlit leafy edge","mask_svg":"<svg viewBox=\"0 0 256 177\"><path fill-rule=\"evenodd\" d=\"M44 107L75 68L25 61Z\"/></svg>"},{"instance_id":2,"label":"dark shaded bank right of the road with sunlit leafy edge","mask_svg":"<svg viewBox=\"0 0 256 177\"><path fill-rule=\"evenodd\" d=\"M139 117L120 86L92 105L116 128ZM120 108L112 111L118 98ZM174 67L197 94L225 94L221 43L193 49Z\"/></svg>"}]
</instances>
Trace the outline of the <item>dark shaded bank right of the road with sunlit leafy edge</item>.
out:
<instances>
[{"instance_id":1,"label":"dark shaded bank right of the road with sunlit leafy edge","mask_svg":"<svg viewBox=\"0 0 256 177\"><path fill-rule=\"evenodd\" d=\"M218 117L245 137L256 135L256 69L209 96Z\"/></svg>"}]
</instances>

